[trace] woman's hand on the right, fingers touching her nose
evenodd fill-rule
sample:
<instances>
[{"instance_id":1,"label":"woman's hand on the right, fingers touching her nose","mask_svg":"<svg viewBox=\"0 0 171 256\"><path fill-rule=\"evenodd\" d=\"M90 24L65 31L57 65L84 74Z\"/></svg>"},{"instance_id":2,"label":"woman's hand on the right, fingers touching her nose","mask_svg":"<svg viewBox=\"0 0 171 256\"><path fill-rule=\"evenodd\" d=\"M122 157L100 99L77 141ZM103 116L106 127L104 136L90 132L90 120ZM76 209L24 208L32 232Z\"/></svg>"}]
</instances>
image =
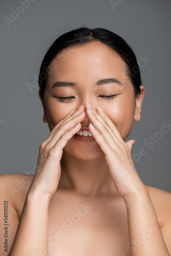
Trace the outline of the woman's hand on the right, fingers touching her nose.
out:
<instances>
[{"instance_id":1,"label":"woman's hand on the right, fingers touching her nose","mask_svg":"<svg viewBox=\"0 0 171 256\"><path fill-rule=\"evenodd\" d=\"M91 114L91 110L93 114ZM125 143L108 115L100 112L99 108L97 111L92 109L90 103L89 105L86 104L86 113L91 124L95 127L94 130L90 124L89 130L104 153L119 195L125 198L127 195L136 193L139 189L146 190L131 158L134 140L129 140Z\"/></svg>"}]
</instances>

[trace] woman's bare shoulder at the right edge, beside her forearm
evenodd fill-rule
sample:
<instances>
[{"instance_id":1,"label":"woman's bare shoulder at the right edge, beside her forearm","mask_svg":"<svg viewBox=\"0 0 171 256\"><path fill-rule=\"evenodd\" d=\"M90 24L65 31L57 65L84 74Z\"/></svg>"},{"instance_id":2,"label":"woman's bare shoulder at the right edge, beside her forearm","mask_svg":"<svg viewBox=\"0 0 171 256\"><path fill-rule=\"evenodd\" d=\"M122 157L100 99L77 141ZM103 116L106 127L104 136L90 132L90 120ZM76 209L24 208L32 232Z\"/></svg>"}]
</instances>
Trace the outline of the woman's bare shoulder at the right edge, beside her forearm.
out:
<instances>
[{"instance_id":1,"label":"woman's bare shoulder at the right edge, beside her forearm","mask_svg":"<svg viewBox=\"0 0 171 256\"><path fill-rule=\"evenodd\" d=\"M170 222L171 193L156 187L146 186L146 188L156 210L160 226L167 221Z\"/></svg>"}]
</instances>

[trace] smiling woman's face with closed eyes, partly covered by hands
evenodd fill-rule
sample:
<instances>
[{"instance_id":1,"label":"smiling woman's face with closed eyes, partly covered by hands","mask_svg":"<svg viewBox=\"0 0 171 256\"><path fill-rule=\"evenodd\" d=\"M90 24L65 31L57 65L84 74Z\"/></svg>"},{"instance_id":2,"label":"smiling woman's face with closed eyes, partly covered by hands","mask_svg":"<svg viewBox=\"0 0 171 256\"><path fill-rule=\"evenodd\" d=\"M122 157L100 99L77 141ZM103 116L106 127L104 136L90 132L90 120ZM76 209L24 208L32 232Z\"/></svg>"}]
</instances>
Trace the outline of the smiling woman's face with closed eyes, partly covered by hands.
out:
<instances>
[{"instance_id":1,"label":"smiling woman's face with closed eyes, partly covered by hands","mask_svg":"<svg viewBox=\"0 0 171 256\"><path fill-rule=\"evenodd\" d=\"M135 97L133 84L126 73L126 64L117 53L113 53L101 42L91 42L65 49L55 57L51 67L53 69L47 80L45 97L44 100L41 99L44 105L44 122L48 122L50 131L81 104L86 110L85 104L89 101L93 108L97 109L100 106L106 112L116 125L122 139L126 139L132 129L133 121L140 120L144 87L140 87L141 95ZM97 81L109 78L114 78L118 82L109 81L96 85ZM57 81L74 82L76 86L52 88ZM101 97L111 95L116 97L113 99ZM60 101L57 97L72 98ZM90 120L86 115L81 125L89 124ZM68 141L65 150L80 159L83 159L81 156L83 153L87 154L84 159L92 159L92 156L99 157L103 154L96 141L84 143L74 138Z\"/></svg>"}]
</instances>

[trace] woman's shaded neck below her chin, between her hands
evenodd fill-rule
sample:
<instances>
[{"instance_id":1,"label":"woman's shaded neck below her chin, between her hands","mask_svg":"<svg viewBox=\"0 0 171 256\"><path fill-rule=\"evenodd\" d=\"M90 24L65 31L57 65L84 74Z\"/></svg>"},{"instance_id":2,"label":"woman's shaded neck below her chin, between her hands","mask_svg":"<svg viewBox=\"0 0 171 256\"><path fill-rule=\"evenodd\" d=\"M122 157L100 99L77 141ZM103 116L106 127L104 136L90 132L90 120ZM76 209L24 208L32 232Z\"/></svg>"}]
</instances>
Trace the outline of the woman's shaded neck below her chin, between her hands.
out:
<instances>
[{"instance_id":1,"label":"woman's shaded neck below her chin, between her hands","mask_svg":"<svg viewBox=\"0 0 171 256\"><path fill-rule=\"evenodd\" d=\"M117 193L104 156L81 160L63 150L58 187L72 189L82 195Z\"/></svg>"}]
</instances>

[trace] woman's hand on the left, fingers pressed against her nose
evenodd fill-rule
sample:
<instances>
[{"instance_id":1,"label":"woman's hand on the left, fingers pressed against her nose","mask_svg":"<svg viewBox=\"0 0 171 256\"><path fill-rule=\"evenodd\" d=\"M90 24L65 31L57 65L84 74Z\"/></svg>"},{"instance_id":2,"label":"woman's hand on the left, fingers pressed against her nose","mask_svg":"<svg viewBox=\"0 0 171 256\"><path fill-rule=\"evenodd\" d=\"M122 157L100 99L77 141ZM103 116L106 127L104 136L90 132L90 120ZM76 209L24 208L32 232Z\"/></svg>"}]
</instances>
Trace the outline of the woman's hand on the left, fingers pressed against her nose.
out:
<instances>
[{"instance_id":1,"label":"woman's hand on the left, fingers pressed against her nose","mask_svg":"<svg viewBox=\"0 0 171 256\"><path fill-rule=\"evenodd\" d=\"M29 193L39 191L40 195L45 195L48 199L55 193L61 174L60 160L63 147L80 130L80 122L84 118L85 112L83 111L83 106L81 106L80 110L72 111L64 117L54 127L48 138L42 142L39 148L36 172L29 188Z\"/></svg>"}]
</instances>

